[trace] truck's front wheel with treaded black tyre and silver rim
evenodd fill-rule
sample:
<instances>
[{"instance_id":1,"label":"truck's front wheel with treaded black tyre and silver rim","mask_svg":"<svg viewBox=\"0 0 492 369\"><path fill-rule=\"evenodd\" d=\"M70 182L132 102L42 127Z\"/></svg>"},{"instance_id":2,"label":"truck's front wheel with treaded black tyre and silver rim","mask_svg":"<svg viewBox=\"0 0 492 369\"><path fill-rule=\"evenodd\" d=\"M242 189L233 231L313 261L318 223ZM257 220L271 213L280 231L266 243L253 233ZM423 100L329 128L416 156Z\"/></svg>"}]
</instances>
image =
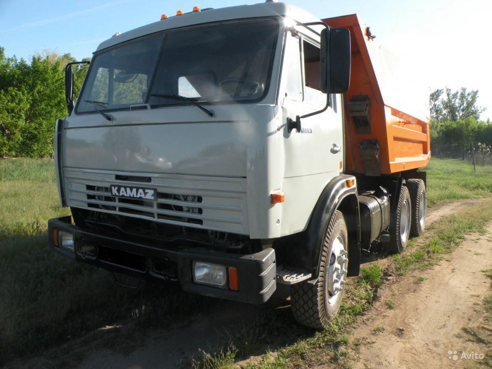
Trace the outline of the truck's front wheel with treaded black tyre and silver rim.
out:
<instances>
[{"instance_id":1,"label":"truck's front wheel with treaded black tyre and silver rim","mask_svg":"<svg viewBox=\"0 0 492 369\"><path fill-rule=\"evenodd\" d=\"M323 240L317 282L305 281L291 287L292 313L299 323L326 328L338 311L347 275L347 240L345 219L337 210Z\"/></svg>"}]
</instances>

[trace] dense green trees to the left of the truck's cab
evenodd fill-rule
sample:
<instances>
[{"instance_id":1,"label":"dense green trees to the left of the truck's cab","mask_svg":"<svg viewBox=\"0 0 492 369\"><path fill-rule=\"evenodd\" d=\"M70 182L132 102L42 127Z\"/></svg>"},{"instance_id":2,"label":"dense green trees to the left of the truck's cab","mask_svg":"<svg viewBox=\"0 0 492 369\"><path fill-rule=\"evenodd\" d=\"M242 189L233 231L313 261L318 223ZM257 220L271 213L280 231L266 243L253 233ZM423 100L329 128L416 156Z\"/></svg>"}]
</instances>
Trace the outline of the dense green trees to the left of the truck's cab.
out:
<instances>
[{"instance_id":1,"label":"dense green trees to the left of the truck's cab","mask_svg":"<svg viewBox=\"0 0 492 369\"><path fill-rule=\"evenodd\" d=\"M67 114L64 66L74 59L44 52L28 64L4 51L0 47L0 157L51 156L55 121ZM75 96L86 70L75 68Z\"/></svg>"}]
</instances>

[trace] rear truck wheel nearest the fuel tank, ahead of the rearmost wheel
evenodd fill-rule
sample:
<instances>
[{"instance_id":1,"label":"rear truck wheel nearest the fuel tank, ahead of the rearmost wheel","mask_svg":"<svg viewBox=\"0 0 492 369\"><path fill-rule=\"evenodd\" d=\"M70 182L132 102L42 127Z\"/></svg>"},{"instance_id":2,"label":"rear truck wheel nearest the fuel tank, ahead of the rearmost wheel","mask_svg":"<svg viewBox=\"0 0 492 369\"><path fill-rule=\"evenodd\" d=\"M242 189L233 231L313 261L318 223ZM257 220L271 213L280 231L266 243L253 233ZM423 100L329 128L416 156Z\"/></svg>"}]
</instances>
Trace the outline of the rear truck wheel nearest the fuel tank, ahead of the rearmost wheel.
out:
<instances>
[{"instance_id":1,"label":"rear truck wheel nearest the fuel tank, ahead of the rearmost wheel","mask_svg":"<svg viewBox=\"0 0 492 369\"><path fill-rule=\"evenodd\" d=\"M410 237L411 224L411 201L410 194L406 186L401 187L400 197L395 211L391 214L389 224L389 250L393 253L403 252Z\"/></svg>"}]
</instances>

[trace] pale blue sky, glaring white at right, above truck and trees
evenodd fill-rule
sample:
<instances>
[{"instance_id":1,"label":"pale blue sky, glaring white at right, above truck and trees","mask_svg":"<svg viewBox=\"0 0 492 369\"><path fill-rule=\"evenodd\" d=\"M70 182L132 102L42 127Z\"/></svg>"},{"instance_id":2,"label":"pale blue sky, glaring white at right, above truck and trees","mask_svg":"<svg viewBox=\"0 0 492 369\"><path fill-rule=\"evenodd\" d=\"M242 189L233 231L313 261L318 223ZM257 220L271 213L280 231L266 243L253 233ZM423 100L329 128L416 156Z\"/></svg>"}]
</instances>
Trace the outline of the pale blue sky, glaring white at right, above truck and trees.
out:
<instances>
[{"instance_id":1,"label":"pale blue sky, glaring white at right, above truck and trees","mask_svg":"<svg viewBox=\"0 0 492 369\"><path fill-rule=\"evenodd\" d=\"M251 0L0 0L0 46L29 61L44 50L90 57L116 32L158 21L193 6L254 4ZM434 91L479 90L492 120L492 0L291 0L319 18L358 13L376 40L404 59Z\"/></svg>"}]
</instances>

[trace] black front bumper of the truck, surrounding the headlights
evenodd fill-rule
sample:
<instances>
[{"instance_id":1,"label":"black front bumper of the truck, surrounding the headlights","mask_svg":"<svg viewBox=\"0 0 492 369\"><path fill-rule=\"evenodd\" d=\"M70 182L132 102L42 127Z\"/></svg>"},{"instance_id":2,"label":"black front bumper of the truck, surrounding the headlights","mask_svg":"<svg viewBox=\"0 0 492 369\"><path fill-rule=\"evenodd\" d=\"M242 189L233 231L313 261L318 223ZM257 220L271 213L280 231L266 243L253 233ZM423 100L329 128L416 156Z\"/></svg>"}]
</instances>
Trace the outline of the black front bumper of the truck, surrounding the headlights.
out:
<instances>
[{"instance_id":1,"label":"black front bumper of the truck, surrounding the headlights","mask_svg":"<svg viewBox=\"0 0 492 369\"><path fill-rule=\"evenodd\" d=\"M57 246L58 241L54 234L60 231L73 235L73 251ZM72 225L71 217L50 219L48 235L50 247L77 261L138 278L177 280L187 292L260 304L267 301L276 289L276 260L273 248L266 248L249 255L239 255L203 249L139 244L85 231ZM220 264L226 268L235 267L238 290L194 283L193 261Z\"/></svg>"}]
</instances>

